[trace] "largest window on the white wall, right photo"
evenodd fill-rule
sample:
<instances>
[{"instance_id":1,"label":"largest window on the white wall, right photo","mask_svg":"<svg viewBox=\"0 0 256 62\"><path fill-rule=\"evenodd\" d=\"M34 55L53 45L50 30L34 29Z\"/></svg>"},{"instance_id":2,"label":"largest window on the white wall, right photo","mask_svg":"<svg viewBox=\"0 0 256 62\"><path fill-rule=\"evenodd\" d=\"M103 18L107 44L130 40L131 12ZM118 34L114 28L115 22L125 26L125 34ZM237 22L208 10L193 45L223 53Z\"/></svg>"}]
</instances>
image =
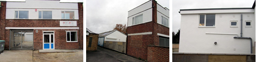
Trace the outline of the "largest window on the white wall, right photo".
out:
<instances>
[{"instance_id":1,"label":"largest window on the white wall, right photo","mask_svg":"<svg viewBox=\"0 0 256 62\"><path fill-rule=\"evenodd\" d=\"M215 27L215 14L199 15L200 27Z\"/></svg>"}]
</instances>

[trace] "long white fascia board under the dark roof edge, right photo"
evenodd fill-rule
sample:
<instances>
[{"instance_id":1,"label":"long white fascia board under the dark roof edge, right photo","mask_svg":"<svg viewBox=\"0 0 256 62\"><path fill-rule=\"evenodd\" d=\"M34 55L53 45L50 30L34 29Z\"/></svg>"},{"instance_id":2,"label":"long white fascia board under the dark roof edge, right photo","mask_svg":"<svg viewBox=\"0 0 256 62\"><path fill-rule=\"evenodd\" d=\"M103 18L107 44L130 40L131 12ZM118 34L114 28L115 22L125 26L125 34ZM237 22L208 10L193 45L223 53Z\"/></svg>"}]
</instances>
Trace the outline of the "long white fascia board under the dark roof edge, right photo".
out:
<instances>
[{"instance_id":1,"label":"long white fascia board under the dark roof edge, right photo","mask_svg":"<svg viewBox=\"0 0 256 62\"><path fill-rule=\"evenodd\" d=\"M215 10L182 10L180 14L206 14L206 13L254 13L254 9L215 9Z\"/></svg>"}]
</instances>

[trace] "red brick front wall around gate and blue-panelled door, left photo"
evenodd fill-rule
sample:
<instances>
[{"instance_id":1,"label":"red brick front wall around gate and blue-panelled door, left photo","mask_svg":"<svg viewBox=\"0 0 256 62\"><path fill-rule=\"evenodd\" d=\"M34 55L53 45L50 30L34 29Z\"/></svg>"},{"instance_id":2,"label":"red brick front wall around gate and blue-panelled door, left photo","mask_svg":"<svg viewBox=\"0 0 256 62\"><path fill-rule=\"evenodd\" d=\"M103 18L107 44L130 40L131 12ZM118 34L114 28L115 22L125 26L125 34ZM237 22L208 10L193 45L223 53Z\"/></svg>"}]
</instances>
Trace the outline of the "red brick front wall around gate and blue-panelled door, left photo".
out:
<instances>
[{"instance_id":1,"label":"red brick front wall around gate and blue-panelled door, left photo","mask_svg":"<svg viewBox=\"0 0 256 62\"><path fill-rule=\"evenodd\" d=\"M9 50L10 29L5 27L60 27L59 21L77 21L79 29L34 29L34 50L43 48L42 31L55 31L55 49L83 49L83 3L78 3L79 20L75 19L5 19L6 2L1 1L0 40L5 40L5 50ZM39 32L36 33L36 30ZM66 31L78 31L78 42L67 43ZM80 47L80 48L79 48Z\"/></svg>"}]
</instances>

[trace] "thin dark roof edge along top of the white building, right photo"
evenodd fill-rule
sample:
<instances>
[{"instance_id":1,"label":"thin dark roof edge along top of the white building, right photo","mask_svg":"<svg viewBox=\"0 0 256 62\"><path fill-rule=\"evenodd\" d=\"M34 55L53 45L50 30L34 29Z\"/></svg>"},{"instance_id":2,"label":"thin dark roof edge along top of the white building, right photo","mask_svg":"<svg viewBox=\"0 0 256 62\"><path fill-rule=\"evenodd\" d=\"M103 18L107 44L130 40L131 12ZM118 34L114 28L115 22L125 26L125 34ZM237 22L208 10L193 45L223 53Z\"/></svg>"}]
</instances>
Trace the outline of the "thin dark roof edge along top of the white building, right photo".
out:
<instances>
[{"instance_id":1,"label":"thin dark roof edge along top of the white building, right photo","mask_svg":"<svg viewBox=\"0 0 256 62\"><path fill-rule=\"evenodd\" d=\"M180 11L183 11L183 10L216 10L216 9L253 9L253 8L180 9Z\"/></svg>"}]
</instances>

